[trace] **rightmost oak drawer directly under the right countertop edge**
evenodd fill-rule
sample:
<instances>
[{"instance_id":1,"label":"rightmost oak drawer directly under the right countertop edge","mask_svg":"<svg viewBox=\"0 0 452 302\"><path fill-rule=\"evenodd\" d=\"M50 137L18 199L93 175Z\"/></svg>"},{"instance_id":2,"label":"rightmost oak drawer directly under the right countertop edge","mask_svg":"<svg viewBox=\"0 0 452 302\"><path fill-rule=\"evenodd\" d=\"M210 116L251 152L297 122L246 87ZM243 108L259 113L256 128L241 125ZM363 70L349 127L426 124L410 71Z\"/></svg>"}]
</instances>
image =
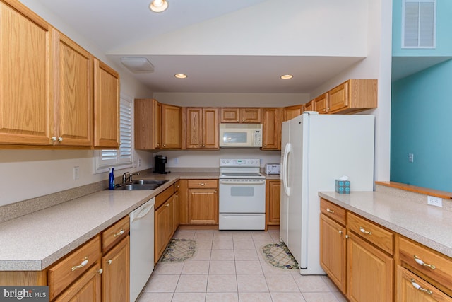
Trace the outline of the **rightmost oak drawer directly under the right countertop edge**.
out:
<instances>
[{"instance_id":1,"label":"rightmost oak drawer directly under the right countertop edge","mask_svg":"<svg viewBox=\"0 0 452 302\"><path fill-rule=\"evenodd\" d=\"M424 245L399 237L399 255L403 267L411 267L433 281L452 289L452 260Z\"/></svg>"}]
</instances>

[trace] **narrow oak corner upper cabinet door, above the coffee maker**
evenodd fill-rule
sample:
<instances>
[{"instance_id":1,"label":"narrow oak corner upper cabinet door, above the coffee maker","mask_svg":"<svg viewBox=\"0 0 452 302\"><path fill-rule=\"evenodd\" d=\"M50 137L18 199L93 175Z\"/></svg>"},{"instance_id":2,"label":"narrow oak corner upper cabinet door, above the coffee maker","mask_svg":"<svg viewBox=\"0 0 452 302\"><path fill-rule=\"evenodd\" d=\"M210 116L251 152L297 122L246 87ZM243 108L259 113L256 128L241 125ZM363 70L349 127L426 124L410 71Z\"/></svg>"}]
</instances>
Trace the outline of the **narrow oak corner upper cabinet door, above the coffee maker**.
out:
<instances>
[{"instance_id":1,"label":"narrow oak corner upper cabinet door, above the coffee maker","mask_svg":"<svg viewBox=\"0 0 452 302\"><path fill-rule=\"evenodd\" d=\"M162 104L162 148L182 148L182 110L178 106Z\"/></svg>"}]
</instances>

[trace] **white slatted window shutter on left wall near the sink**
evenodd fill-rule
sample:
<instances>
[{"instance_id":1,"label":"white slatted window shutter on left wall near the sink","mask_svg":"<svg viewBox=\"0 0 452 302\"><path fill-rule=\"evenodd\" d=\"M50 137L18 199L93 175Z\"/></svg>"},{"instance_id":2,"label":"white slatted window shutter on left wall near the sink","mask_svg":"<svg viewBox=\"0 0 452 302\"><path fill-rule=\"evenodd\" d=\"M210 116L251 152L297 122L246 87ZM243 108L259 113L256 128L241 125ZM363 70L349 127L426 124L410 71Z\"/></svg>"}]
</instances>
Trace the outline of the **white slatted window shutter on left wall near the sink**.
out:
<instances>
[{"instance_id":1,"label":"white slatted window shutter on left wall near the sink","mask_svg":"<svg viewBox=\"0 0 452 302\"><path fill-rule=\"evenodd\" d=\"M104 172L108 167L128 168L132 166L132 100L121 96L119 105L119 149L101 150L96 156L96 171Z\"/></svg>"}]
</instances>

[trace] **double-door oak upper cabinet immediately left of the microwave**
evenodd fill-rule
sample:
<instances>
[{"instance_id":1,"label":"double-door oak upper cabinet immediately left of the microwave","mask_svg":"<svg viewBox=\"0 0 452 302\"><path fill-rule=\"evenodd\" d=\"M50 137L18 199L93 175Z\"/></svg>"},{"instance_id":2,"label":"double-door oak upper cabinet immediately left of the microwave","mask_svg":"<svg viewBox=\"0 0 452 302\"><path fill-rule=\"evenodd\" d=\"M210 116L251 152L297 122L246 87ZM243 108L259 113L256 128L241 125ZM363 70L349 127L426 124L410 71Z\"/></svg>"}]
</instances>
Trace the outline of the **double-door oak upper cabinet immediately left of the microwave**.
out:
<instances>
[{"instance_id":1,"label":"double-door oak upper cabinet immediately left of the microwave","mask_svg":"<svg viewBox=\"0 0 452 302\"><path fill-rule=\"evenodd\" d=\"M186 149L218 148L218 108L186 108Z\"/></svg>"}]
</instances>

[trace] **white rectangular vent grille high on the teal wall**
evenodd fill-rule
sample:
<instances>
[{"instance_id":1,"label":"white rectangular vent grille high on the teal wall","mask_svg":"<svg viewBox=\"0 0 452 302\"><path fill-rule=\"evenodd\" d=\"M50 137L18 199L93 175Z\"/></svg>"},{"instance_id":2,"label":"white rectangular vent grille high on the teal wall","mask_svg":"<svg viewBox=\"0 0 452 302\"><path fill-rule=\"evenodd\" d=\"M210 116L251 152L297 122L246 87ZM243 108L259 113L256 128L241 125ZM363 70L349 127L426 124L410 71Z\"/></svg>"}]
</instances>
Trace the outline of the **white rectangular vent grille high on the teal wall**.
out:
<instances>
[{"instance_id":1,"label":"white rectangular vent grille high on the teal wall","mask_svg":"<svg viewBox=\"0 0 452 302\"><path fill-rule=\"evenodd\" d=\"M436 0L403 0L402 48L435 48Z\"/></svg>"}]
</instances>

